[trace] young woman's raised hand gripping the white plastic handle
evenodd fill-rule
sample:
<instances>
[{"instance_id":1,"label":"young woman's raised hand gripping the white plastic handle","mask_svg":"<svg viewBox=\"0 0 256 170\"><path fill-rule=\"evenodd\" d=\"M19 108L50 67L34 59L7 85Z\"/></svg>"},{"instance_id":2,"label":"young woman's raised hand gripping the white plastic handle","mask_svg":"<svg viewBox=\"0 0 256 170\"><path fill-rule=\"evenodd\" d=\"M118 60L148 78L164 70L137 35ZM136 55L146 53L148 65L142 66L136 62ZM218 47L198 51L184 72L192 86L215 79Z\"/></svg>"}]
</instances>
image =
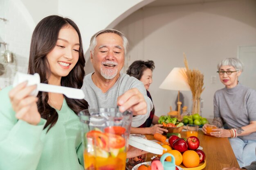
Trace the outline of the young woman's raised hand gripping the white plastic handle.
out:
<instances>
[{"instance_id":1,"label":"young woman's raised hand gripping the white plastic handle","mask_svg":"<svg viewBox=\"0 0 256 170\"><path fill-rule=\"evenodd\" d=\"M36 85L27 86L27 82L20 83L9 92L11 105L16 112L16 118L37 125L40 122L40 113L37 108L38 98L30 96Z\"/></svg>"}]
</instances>

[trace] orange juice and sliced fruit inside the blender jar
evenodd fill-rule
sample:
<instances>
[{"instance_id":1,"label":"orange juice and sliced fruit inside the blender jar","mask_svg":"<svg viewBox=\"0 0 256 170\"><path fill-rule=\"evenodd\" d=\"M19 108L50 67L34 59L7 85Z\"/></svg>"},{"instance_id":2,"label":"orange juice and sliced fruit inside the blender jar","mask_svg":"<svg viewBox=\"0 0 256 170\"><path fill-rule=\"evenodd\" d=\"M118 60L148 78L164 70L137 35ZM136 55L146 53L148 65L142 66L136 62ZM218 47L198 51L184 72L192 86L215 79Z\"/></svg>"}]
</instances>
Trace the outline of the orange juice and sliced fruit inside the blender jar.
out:
<instances>
[{"instance_id":1,"label":"orange juice and sliced fruit inside the blender jar","mask_svg":"<svg viewBox=\"0 0 256 170\"><path fill-rule=\"evenodd\" d=\"M121 126L114 127L123 128ZM125 170L124 137L98 130L89 131L86 137L88 150L85 150L83 155L85 170Z\"/></svg>"}]
</instances>

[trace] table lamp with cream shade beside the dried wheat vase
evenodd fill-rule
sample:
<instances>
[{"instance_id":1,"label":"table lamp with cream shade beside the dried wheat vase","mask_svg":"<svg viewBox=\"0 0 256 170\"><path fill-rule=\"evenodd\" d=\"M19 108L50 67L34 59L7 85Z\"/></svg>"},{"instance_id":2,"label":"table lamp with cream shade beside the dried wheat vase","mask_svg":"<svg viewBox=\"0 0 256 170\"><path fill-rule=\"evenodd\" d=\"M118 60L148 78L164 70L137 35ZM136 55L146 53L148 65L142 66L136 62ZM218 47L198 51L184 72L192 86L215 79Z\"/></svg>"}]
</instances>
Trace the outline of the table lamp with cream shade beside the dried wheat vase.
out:
<instances>
[{"instance_id":1,"label":"table lamp with cream shade beside the dried wheat vase","mask_svg":"<svg viewBox=\"0 0 256 170\"><path fill-rule=\"evenodd\" d=\"M173 68L168 76L164 79L163 83L159 86L160 89L177 90L178 91L178 118L180 118L180 90L189 91L190 87L186 76L185 68Z\"/></svg>"}]
</instances>

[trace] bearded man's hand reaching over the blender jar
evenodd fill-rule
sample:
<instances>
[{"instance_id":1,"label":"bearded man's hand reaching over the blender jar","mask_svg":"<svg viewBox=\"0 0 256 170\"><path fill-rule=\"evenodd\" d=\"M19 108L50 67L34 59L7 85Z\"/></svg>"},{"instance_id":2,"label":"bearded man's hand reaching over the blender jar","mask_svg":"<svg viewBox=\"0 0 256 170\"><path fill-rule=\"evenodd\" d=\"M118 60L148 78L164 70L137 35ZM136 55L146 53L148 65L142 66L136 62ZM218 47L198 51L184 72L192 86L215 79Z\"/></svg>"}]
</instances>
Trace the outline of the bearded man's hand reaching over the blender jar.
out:
<instances>
[{"instance_id":1,"label":"bearded man's hand reaching over the blender jar","mask_svg":"<svg viewBox=\"0 0 256 170\"><path fill-rule=\"evenodd\" d=\"M133 115L144 115L147 113L147 103L143 94L137 88L132 88L117 98L119 110L132 111Z\"/></svg>"}]
</instances>

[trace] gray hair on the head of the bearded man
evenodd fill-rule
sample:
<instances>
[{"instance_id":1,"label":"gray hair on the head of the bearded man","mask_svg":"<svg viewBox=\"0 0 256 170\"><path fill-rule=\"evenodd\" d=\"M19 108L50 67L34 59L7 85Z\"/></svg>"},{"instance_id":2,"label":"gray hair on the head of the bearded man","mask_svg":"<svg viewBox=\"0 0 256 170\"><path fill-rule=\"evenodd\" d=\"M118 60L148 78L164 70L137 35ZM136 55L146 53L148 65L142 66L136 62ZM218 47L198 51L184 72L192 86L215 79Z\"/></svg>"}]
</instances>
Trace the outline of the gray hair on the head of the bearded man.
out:
<instances>
[{"instance_id":1,"label":"gray hair on the head of the bearded man","mask_svg":"<svg viewBox=\"0 0 256 170\"><path fill-rule=\"evenodd\" d=\"M95 33L94 35L92 35L91 41L90 41L90 51L92 51L92 54L94 52L94 48L97 45L96 37L98 37L99 35L104 34L104 33L114 33L114 34L119 35L123 39L124 55L126 55L127 48L128 48L128 39L124 36L123 33L121 33L120 31L114 30L114 29L104 29L104 30L101 30L101 31Z\"/></svg>"}]
</instances>

